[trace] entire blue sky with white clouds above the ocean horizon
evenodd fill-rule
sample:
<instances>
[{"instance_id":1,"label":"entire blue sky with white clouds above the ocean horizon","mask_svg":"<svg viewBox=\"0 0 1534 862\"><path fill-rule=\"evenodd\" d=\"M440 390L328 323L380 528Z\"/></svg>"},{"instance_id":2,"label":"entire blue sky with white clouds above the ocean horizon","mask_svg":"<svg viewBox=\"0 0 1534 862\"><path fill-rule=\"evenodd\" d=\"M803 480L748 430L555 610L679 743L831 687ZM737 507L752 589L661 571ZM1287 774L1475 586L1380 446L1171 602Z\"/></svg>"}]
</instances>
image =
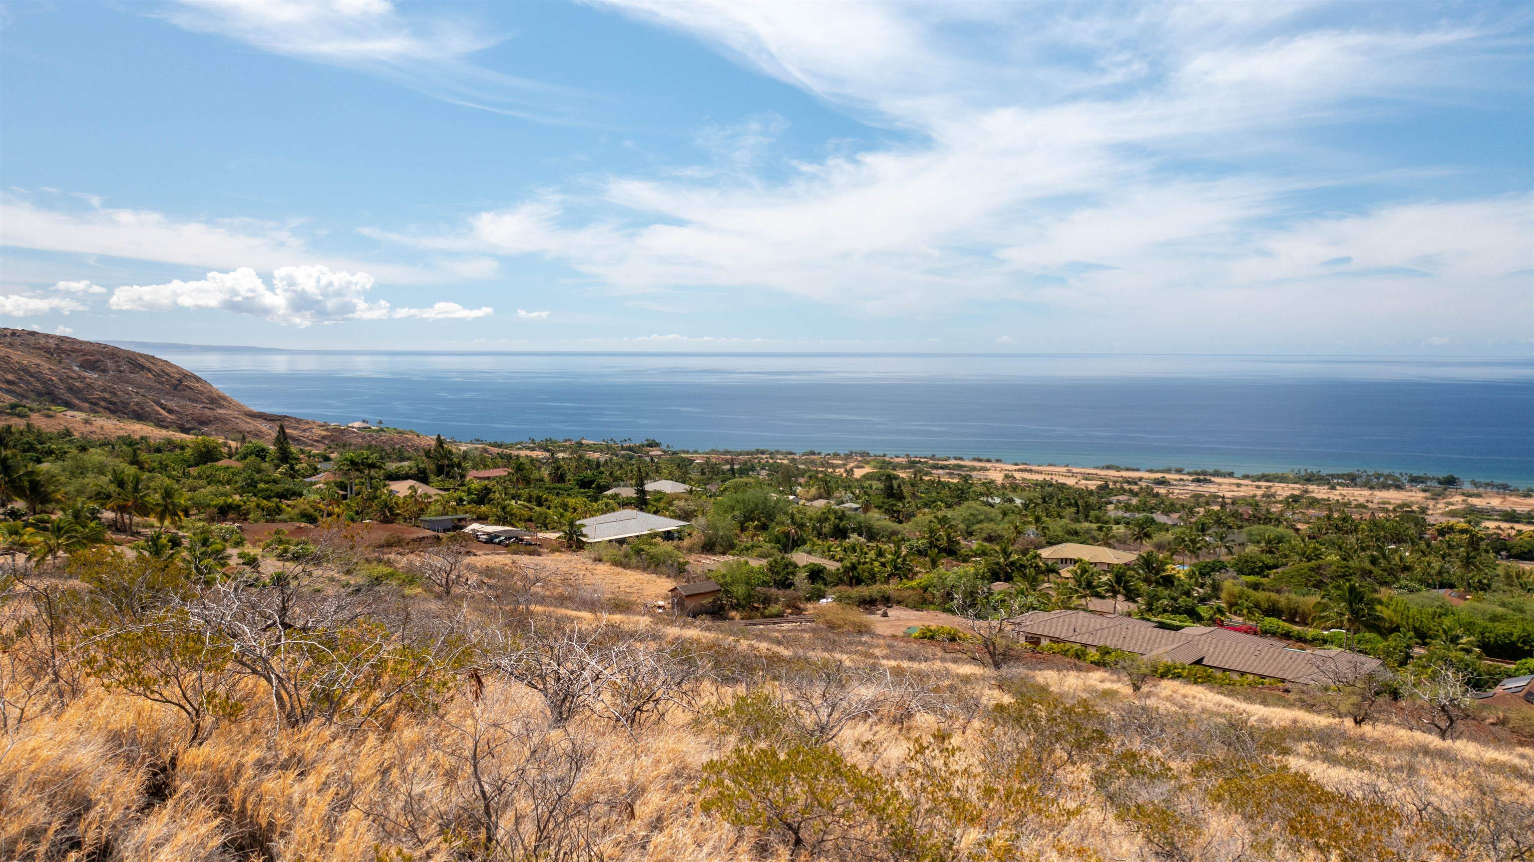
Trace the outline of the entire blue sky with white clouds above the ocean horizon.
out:
<instances>
[{"instance_id":1,"label":"entire blue sky with white clouds above the ocean horizon","mask_svg":"<svg viewBox=\"0 0 1534 862\"><path fill-rule=\"evenodd\" d=\"M1526 5L9 3L0 322L1534 353Z\"/></svg>"}]
</instances>

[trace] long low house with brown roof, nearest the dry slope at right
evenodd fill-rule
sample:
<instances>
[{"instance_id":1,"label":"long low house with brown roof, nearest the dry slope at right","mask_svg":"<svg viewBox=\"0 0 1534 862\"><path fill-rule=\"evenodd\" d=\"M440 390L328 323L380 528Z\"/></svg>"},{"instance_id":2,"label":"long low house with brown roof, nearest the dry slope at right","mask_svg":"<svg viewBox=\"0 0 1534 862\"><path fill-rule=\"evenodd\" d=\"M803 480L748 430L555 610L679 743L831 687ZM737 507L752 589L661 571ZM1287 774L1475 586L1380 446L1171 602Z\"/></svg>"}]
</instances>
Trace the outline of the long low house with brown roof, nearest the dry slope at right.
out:
<instances>
[{"instance_id":1,"label":"long low house with brown roof, nearest the dry slope at right","mask_svg":"<svg viewBox=\"0 0 1534 862\"><path fill-rule=\"evenodd\" d=\"M1218 626L1163 629L1149 620L1098 617L1085 610L1032 610L1011 620L1014 637L1031 644L1104 646L1227 673L1250 673L1285 683L1325 683L1338 675L1381 666L1373 656L1339 649L1302 650L1284 641Z\"/></svg>"}]
</instances>

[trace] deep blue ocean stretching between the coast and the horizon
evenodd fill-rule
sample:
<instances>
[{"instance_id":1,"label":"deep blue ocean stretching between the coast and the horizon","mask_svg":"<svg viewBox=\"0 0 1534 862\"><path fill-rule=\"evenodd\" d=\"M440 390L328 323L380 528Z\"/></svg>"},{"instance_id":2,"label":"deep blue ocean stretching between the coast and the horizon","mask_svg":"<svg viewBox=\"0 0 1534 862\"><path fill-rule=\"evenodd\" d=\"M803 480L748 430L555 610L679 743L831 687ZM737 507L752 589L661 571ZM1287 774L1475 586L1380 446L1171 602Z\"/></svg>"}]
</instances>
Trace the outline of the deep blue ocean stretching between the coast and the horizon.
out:
<instances>
[{"instance_id":1,"label":"deep blue ocean stretching between the coast and the horizon","mask_svg":"<svg viewBox=\"0 0 1534 862\"><path fill-rule=\"evenodd\" d=\"M345 353L124 345L256 410L459 440L996 457L1534 486L1534 357Z\"/></svg>"}]
</instances>

